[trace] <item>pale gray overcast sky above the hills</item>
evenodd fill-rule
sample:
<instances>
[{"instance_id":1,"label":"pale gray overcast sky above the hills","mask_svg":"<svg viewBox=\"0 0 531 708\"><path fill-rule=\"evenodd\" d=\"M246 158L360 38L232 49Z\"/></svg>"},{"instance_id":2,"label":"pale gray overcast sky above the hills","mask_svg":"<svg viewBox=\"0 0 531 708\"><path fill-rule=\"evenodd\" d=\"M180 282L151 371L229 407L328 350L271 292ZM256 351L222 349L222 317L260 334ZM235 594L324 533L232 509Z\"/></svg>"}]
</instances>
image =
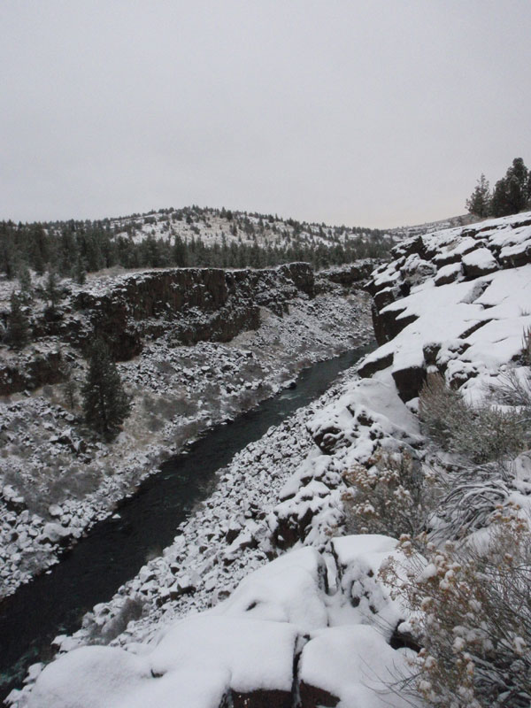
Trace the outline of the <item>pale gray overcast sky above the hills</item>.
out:
<instances>
[{"instance_id":1,"label":"pale gray overcast sky above the hills","mask_svg":"<svg viewBox=\"0 0 531 708\"><path fill-rule=\"evenodd\" d=\"M392 227L531 163L530 0L2 0L0 219Z\"/></svg>"}]
</instances>

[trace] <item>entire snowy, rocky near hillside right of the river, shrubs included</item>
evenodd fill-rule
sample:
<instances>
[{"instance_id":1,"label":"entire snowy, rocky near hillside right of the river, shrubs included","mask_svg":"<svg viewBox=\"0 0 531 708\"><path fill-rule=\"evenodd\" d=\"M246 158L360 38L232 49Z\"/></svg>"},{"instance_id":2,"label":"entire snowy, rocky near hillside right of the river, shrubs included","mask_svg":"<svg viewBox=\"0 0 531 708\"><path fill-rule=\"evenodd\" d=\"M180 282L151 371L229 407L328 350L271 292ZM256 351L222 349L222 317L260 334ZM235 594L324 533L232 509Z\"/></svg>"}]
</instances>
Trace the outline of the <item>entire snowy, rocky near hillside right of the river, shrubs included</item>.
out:
<instances>
[{"instance_id":1,"label":"entire snowy, rocky near hillside right of the river, shrubs included","mask_svg":"<svg viewBox=\"0 0 531 708\"><path fill-rule=\"evenodd\" d=\"M528 704L531 212L414 236L368 287L380 347L13 705Z\"/></svg>"}]
</instances>

